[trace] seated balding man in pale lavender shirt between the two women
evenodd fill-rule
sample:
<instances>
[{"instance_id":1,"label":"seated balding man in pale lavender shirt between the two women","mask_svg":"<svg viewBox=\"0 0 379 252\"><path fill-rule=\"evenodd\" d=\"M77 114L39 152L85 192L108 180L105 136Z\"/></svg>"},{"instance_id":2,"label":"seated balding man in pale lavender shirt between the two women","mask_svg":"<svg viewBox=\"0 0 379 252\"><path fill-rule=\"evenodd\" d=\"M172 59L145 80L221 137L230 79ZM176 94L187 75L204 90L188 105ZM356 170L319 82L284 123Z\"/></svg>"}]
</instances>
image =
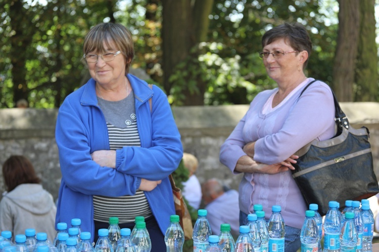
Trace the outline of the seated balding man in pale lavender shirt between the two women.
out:
<instances>
[{"instance_id":1,"label":"seated balding man in pale lavender shirt between the two women","mask_svg":"<svg viewBox=\"0 0 379 252\"><path fill-rule=\"evenodd\" d=\"M207 180L202 185L202 192L212 234L218 235L221 224L228 223L232 236L238 237L240 228L238 192L235 190L224 192L222 184L215 178Z\"/></svg>"}]
</instances>

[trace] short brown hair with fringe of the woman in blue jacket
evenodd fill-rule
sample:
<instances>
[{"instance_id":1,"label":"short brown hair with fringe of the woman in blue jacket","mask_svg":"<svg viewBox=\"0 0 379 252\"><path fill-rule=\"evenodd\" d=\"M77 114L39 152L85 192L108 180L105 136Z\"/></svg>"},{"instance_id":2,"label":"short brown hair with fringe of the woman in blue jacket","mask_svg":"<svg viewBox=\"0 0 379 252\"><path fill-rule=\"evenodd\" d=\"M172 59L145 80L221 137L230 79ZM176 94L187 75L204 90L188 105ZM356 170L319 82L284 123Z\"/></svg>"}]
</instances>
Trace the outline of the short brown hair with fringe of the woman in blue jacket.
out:
<instances>
[{"instance_id":1,"label":"short brown hair with fringe of the woman in blue jacket","mask_svg":"<svg viewBox=\"0 0 379 252\"><path fill-rule=\"evenodd\" d=\"M100 23L90 29L84 38L84 55L91 51L103 53L105 51L104 42L110 46L113 42L120 50L126 60L126 73L129 73L131 61L134 57L134 43L130 31L121 24Z\"/></svg>"}]
</instances>

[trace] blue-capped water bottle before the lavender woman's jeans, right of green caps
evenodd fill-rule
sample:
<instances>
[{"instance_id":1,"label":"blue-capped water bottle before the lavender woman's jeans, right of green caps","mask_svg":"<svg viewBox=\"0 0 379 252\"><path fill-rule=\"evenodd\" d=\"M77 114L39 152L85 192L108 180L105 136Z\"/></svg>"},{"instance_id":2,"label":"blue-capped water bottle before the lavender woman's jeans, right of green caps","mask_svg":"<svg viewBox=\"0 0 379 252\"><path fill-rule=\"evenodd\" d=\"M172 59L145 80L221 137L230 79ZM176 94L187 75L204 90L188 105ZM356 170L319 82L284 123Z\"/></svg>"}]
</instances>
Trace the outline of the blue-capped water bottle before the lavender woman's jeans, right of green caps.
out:
<instances>
[{"instance_id":1,"label":"blue-capped water bottle before the lavender woman's jeans, right of green caps","mask_svg":"<svg viewBox=\"0 0 379 252\"><path fill-rule=\"evenodd\" d=\"M286 225L281 216L281 207L272 206L272 214L268 219L268 251L284 252Z\"/></svg>"}]
</instances>

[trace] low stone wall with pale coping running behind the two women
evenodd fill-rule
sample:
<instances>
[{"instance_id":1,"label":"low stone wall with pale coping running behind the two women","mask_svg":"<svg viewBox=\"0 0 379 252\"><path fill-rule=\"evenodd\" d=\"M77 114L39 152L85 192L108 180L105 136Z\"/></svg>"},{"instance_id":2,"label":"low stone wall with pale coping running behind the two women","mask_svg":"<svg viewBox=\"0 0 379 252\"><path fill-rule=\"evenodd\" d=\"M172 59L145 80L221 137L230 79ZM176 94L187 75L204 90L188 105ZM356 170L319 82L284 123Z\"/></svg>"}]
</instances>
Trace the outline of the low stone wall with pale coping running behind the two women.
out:
<instances>
[{"instance_id":1,"label":"low stone wall with pale coping running behind the two women","mask_svg":"<svg viewBox=\"0 0 379 252\"><path fill-rule=\"evenodd\" d=\"M349 121L370 130L375 173L379 175L379 103L341 103ZM200 182L211 177L238 188L240 175L233 175L218 159L221 144L243 117L248 105L174 107L185 152L199 159ZM0 109L0 164L10 155L25 155L42 179L43 187L58 197L61 172L54 131L57 109ZM0 174L2 174L0 170ZM0 191L4 192L3 179Z\"/></svg>"}]
</instances>

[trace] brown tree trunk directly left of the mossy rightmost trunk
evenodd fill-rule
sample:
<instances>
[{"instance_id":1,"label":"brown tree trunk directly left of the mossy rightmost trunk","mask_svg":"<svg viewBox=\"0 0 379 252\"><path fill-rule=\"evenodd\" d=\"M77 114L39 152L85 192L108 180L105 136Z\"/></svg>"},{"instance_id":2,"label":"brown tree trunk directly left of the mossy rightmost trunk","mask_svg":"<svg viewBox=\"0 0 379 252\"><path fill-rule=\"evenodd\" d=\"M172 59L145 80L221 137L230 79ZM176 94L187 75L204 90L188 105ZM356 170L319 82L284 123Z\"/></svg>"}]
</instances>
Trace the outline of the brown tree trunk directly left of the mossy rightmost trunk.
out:
<instances>
[{"instance_id":1,"label":"brown tree trunk directly left of the mossy rightmost trunk","mask_svg":"<svg viewBox=\"0 0 379 252\"><path fill-rule=\"evenodd\" d=\"M355 59L359 41L359 0L339 0L340 12L333 88L339 101L353 101Z\"/></svg>"}]
</instances>

